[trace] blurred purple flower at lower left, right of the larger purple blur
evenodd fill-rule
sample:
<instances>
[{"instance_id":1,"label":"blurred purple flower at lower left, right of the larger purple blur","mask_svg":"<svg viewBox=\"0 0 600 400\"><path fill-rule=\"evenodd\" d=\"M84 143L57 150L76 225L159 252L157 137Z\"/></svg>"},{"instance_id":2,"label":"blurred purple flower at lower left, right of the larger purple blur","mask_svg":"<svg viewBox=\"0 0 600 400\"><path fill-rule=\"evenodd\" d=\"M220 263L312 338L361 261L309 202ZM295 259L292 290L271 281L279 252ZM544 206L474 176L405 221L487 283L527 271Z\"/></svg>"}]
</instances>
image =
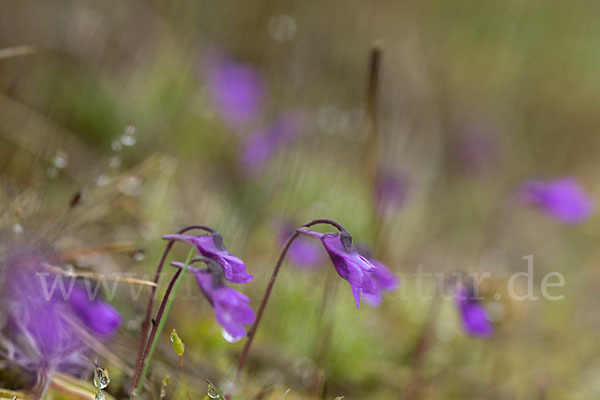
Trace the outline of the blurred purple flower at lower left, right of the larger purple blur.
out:
<instances>
[{"instance_id":1,"label":"blurred purple flower at lower left, right of the larger purple blur","mask_svg":"<svg viewBox=\"0 0 600 400\"><path fill-rule=\"evenodd\" d=\"M121 325L117 310L102 300L90 299L85 287L74 286L69 303L79 319L97 336L112 336Z\"/></svg>"}]
</instances>

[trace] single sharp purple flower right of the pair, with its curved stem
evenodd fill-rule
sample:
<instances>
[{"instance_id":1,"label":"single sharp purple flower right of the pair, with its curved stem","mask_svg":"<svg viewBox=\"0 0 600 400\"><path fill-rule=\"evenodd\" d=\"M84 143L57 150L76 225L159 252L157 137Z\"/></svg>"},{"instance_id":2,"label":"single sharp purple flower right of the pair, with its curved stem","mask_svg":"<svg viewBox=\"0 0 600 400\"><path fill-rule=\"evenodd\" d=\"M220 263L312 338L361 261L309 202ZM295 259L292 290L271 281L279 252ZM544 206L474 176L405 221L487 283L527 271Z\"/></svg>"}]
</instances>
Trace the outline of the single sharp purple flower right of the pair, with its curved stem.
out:
<instances>
[{"instance_id":1,"label":"single sharp purple flower right of the pair, with its curved stem","mask_svg":"<svg viewBox=\"0 0 600 400\"><path fill-rule=\"evenodd\" d=\"M317 224L331 225L338 230L338 233L323 234L308 229ZM338 222L329 219L316 219L302 225L289 237L281 254L279 255L279 258L277 259L277 262L275 263L271 278L267 288L265 289L260 306L256 312L256 320L248 331L248 340L246 341L244 348L240 353L237 368L238 377L244 368L244 364L246 363L250 346L252 345L256 330L260 324L260 320L271 295L271 291L273 290L273 286L275 285L275 280L277 279L277 275L281 269L283 260L285 259L285 256L292 243L300 234L317 237L321 240L338 275L350 283L357 307L360 305L361 293L371 295L377 294L375 283L373 282L372 277L369 275L369 272L375 271L376 267L356 251L356 248L352 244L352 236L346 230L346 228L344 228Z\"/></svg>"}]
</instances>

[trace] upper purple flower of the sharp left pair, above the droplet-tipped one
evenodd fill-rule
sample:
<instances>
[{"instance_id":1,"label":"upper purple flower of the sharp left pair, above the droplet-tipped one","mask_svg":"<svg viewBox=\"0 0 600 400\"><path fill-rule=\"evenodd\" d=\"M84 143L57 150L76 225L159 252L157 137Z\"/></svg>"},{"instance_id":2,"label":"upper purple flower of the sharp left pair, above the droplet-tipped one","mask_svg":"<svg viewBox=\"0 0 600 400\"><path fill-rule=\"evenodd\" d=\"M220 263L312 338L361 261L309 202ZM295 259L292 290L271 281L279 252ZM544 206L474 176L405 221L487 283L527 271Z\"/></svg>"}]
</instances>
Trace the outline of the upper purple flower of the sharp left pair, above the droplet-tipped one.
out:
<instances>
[{"instance_id":1,"label":"upper purple flower of the sharp left pair, above the droplet-tipped one","mask_svg":"<svg viewBox=\"0 0 600 400\"><path fill-rule=\"evenodd\" d=\"M208 235L166 235L165 240L178 240L196 246L198 253L217 261L225 271L225 278L233 283L247 283L252 275L246 272L246 265L239 258L229 254L223 238L217 232Z\"/></svg>"}]
</instances>

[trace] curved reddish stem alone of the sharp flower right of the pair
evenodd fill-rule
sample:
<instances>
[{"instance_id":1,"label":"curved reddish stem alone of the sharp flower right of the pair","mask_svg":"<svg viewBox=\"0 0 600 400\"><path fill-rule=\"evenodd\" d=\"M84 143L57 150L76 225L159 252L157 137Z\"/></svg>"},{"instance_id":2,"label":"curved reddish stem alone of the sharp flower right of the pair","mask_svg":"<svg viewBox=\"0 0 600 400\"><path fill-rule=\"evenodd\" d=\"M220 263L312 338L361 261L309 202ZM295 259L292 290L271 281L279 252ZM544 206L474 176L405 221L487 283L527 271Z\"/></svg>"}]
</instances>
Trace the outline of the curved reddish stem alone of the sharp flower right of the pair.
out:
<instances>
[{"instance_id":1,"label":"curved reddish stem alone of the sharp flower right of the pair","mask_svg":"<svg viewBox=\"0 0 600 400\"><path fill-rule=\"evenodd\" d=\"M337 228L340 232L347 232L346 228L342 226L342 224L330 220L330 219L315 219L304 225L301 228L309 228L313 225L317 224L329 224ZM279 274L279 270L281 269L281 264L283 264L283 260L287 254L288 249L292 245L292 242L300 235L300 232L296 230L285 242L283 246L283 250L275 263L275 267L273 268L273 272L271 273L271 279L269 279L269 283L267 284L267 288L265 289L265 294L263 294L260 305L258 306L258 310L256 311L256 319L254 320L254 324L250 327L248 331L248 339L244 344L244 348L240 353L240 358L238 359L238 367L237 367L237 378L239 379L242 369L244 368L244 364L246 363L246 358L248 357L248 351L250 350L250 346L252 345L252 341L254 340L254 336L256 334L256 330L258 329L258 325L260 324L260 320L262 319L263 312L265 311L265 307L267 306L267 301L269 301L269 297L271 296L271 291L273 290L273 285L275 285L275 279L277 279L277 274Z\"/></svg>"}]
</instances>

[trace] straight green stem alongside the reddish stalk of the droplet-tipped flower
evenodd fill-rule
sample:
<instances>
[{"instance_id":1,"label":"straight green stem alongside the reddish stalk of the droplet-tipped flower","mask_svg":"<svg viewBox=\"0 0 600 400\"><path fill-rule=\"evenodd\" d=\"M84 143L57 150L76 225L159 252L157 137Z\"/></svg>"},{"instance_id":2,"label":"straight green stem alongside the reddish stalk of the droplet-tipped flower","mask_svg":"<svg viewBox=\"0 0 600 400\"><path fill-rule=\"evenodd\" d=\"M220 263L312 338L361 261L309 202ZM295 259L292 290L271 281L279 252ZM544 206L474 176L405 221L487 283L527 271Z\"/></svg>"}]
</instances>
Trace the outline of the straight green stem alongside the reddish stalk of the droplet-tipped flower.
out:
<instances>
[{"instance_id":1,"label":"straight green stem alongside the reddish stalk of the droplet-tipped flower","mask_svg":"<svg viewBox=\"0 0 600 400\"><path fill-rule=\"evenodd\" d=\"M164 328L165 322L167 320L167 315L169 311L171 311L171 307L173 306L173 301L175 300L175 295L177 293L177 289L181 284L183 274L192 257L194 256L195 249L190 250L188 253L187 259L185 260L185 267L183 269L178 269L175 272L175 275L169 282L169 286L167 287L167 291L163 297L163 300L160 304L160 308L158 309L158 313L156 314L156 319L154 325L152 326L152 330L150 331L150 336L148 337L148 342L145 346L144 353L141 358L141 362L138 365L138 370L143 368L142 372L139 376L139 380L137 382L137 386L135 387L132 395L135 397L141 390L144 385L144 380L146 375L148 375L148 371L150 369L150 361L152 360L152 356L154 355L154 351L156 350L156 344L158 343L158 339L160 338L160 334ZM139 371L137 371L139 374Z\"/></svg>"}]
</instances>

